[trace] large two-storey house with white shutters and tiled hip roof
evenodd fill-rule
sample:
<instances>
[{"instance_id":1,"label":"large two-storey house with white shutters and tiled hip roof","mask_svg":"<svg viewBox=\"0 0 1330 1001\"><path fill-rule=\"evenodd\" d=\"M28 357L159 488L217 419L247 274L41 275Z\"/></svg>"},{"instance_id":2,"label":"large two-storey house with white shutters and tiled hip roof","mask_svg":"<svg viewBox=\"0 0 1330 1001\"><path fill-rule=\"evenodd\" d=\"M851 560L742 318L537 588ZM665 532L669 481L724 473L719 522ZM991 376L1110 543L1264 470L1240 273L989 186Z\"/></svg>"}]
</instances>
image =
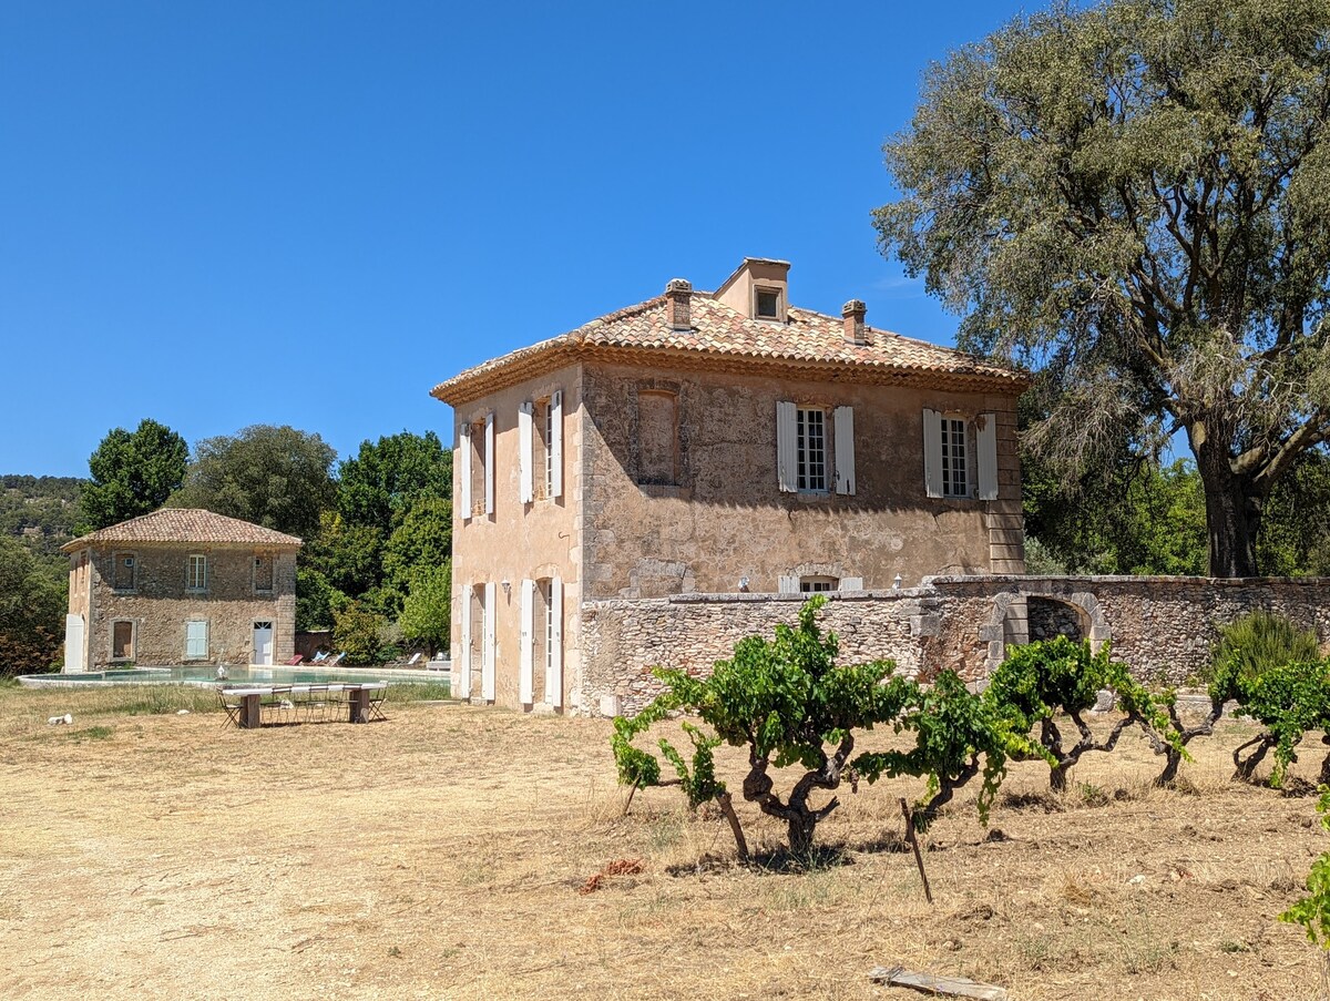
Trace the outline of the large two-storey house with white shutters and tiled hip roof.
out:
<instances>
[{"instance_id":1,"label":"large two-storey house with white shutters and tiled hip roof","mask_svg":"<svg viewBox=\"0 0 1330 1001\"><path fill-rule=\"evenodd\" d=\"M1024 572L1024 374L790 305L746 258L440 383L455 691L581 705L583 610Z\"/></svg>"}]
</instances>

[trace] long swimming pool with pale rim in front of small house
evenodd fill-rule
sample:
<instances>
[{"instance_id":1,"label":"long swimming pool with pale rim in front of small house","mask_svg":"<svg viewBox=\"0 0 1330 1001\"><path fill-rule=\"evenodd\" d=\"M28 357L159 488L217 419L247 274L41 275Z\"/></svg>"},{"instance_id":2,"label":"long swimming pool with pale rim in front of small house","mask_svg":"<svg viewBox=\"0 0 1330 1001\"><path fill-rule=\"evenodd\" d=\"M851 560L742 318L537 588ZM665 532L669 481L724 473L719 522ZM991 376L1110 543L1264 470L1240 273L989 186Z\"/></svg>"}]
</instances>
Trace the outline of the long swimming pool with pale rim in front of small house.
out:
<instances>
[{"instance_id":1,"label":"long swimming pool with pale rim in front of small house","mask_svg":"<svg viewBox=\"0 0 1330 1001\"><path fill-rule=\"evenodd\" d=\"M327 684L330 682L387 682L388 684L447 684L448 670L334 667L317 664L301 667L257 667L229 664L226 678L217 678L217 668L207 664L196 667L134 667L120 671L86 671L84 674L20 675L19 684L29 688L78 688L104 684Z\"/></svg>"}]
</instances>

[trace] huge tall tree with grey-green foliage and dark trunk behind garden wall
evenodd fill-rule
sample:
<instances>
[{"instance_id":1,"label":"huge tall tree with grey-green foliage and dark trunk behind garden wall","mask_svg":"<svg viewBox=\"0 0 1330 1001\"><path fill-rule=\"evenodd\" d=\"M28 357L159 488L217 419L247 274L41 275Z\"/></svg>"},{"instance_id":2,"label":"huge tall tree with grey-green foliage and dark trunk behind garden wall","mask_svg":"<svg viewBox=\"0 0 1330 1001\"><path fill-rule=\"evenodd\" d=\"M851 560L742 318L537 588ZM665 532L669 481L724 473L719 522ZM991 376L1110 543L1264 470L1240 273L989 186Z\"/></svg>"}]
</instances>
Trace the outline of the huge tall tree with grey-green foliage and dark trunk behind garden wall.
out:
<instances>
[{"instance_id":1,"label":"huge tall tree with grey-green foliage and dark trunk behind garden wall","mask_svg":"<svg viewBox=\"0 0 1330 1001\"><path fill-rule=\"evenodd\" d=\"M1186 433L1210 572L1330 437L1330 0L1115 0L934 67L886 145L884 253L963 347L1043 367L1068 466Z\"/></svg>"}]
</instances>

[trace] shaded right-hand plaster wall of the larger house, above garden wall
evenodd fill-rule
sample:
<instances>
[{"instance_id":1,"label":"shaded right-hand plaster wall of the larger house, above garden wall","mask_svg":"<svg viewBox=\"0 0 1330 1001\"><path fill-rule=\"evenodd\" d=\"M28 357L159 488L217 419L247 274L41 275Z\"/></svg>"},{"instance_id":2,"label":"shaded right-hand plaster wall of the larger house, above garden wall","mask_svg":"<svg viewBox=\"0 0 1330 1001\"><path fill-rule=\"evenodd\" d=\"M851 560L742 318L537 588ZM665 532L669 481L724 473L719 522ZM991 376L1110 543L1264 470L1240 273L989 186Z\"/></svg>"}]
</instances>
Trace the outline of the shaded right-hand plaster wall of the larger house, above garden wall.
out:
<instances>
[{"instance_id":1,"label":"shaded right-hand plaster wall of the larger house, above garden wall","mask_svg":"<svg viewBox=\"0 0 1330 1001\"><path fill-rule=\"evenodd\" d=\"M637 482L637 397L660 390L678 399L674 486ZM777 401L854 407L853 497L779 490ZM775 592L782 575L805 574L863 578L864 588L883 590L896 574L908 588L928 574L1019 572L1015 403L948 390L588 363L583 598L734 592L741 578L750 591ZM996 500L927 497L924 407L995 414ZM829 443L831 437L829 429Z\"/></svg>"}]
</instances>

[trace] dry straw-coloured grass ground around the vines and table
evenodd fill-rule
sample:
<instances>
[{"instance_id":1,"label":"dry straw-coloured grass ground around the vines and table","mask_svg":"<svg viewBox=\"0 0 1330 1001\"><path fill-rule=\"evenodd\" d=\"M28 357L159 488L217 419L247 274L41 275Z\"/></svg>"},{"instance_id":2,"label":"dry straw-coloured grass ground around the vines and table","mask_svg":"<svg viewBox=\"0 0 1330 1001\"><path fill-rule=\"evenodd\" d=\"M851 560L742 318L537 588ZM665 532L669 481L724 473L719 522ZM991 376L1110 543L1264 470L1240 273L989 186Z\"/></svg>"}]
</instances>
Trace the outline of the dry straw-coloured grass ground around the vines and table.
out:
<instances>
[{"instance_id":1,"label":"dry straw-coloured grass ground around the vines and table","mask_svg":"<svg viewBox=\"0 0 1330 1001\"><path fill-rule=\"evenodd\" d=\"M1133 740L1063 799L1016 765L988 832L962 796L930 832L930 906L887 851L912 783L843 791L819 829L842 864L739 869L674 789L620 816L604 720L390 701L238 731L172 705L0 690L0 997L919 997L876 964L1029 1001L1319 996L1275 914L1330 839L1311 797L1228 783L1242 724L1193 744L1182 791L1148 788ZM616 860L641 872L579 892Z\"/></svg>"}]
</instances>

